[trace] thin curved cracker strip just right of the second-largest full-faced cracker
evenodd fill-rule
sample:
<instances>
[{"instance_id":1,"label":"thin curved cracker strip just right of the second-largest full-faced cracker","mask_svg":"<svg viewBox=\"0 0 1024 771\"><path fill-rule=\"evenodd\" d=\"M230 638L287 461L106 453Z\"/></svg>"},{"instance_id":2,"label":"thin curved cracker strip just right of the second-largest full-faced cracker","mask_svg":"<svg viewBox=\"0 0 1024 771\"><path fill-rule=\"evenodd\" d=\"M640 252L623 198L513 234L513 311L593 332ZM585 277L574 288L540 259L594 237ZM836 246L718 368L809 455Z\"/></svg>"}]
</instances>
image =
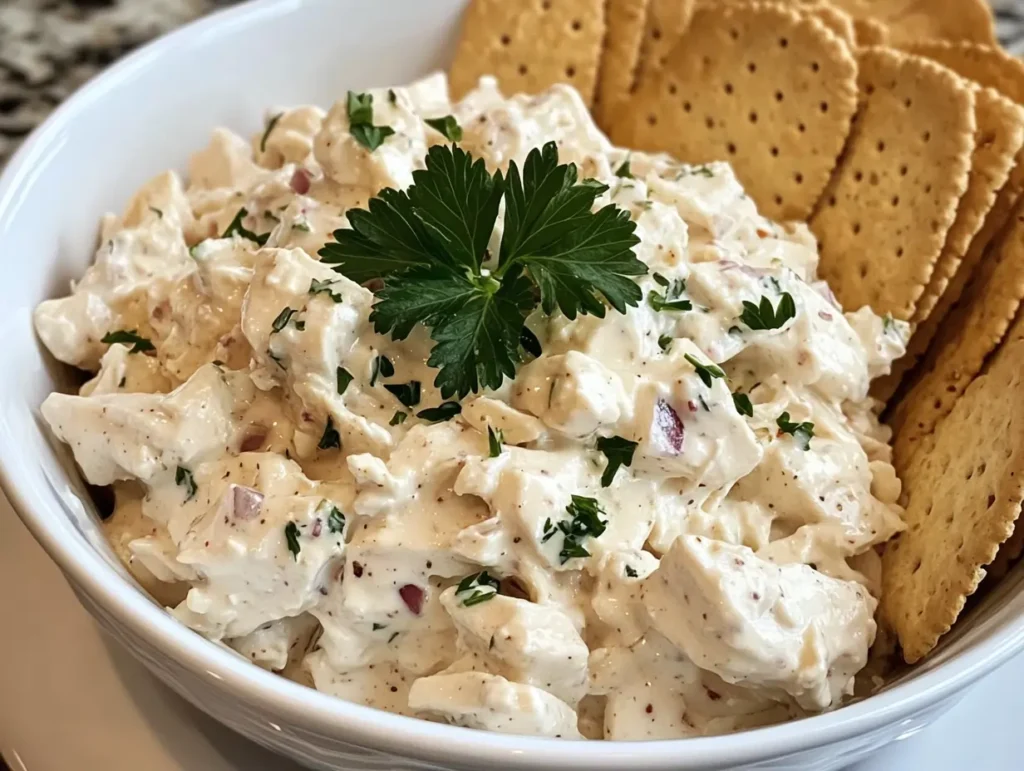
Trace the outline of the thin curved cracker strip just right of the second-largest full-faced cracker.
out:
<instances>
[{"instance_id":1,"label":"thin curved cracker strip just right of the second-largest full-faced cracker","mask_svg":"<svg viewBox=\"0 0 1024 771\"><path fill-rule=\"evenodd\" d=\"M915 331L906 355L893 365L892 374L871 384L871 394L884 401L889 400L903 375L925 355L939 323L959 299L964 284L977 268L981 255L971 254L971 259L967 259L968 250L1024 146L1024 109L998 91L979 88L975 92L975 119L977 130L967 192L961 199L956 219L946 235L925 294L918 301L912 318Z\"/></svg>"}]
</instances>

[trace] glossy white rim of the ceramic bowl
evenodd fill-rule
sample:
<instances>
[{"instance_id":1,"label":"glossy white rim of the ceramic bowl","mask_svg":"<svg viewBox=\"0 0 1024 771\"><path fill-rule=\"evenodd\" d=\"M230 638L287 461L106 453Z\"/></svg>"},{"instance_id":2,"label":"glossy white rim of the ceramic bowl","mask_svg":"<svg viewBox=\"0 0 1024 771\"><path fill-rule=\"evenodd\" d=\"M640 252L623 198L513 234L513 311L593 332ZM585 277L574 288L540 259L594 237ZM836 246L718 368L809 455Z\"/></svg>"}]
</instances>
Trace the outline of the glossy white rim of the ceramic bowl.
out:
<instances>
[{"instance_id":1,"label":"glossy white rim of the ceramic bowl","mask_svg":"<svg viewBox=\"0 0 1024 771\"><path fill-rule=\"evenodd\" d=\"M79 112L101 102L120 84L153 67L173 48L210 45L228 32L271 23L331 0L251 0L218 10L145 44L80 87L29 137L0 173L0 232L33 195L37 167L51 163L61 135ZM0 432L0 487L66 577L137 637L216 689L249 708L282 715L296 726L379 753L421 762L499 768L645 769L726 767L840 742L900 723L912 730L915 713L949 699L1024 649L1024 617L1015 619L934 671L835 712L722 736L651 741L565 741L441 725L379 711L322 693L253 666L193 632L131 586L84 541L60 538L49 521L62 517L55 498L23 494L8 457L18 448Z\"/></svg>"}]
</instances>

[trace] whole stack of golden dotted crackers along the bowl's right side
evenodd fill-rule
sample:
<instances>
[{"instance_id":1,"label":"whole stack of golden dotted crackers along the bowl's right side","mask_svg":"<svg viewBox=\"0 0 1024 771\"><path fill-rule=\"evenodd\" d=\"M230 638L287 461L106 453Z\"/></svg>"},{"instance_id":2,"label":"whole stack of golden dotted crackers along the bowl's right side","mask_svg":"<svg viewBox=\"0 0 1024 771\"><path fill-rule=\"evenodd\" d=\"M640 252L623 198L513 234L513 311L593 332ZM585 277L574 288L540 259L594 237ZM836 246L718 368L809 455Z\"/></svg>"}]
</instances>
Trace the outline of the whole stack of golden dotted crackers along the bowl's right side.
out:
<instances>
[{"instance_id":1,"label":"whole stack of golden dotted crackers along the bowl's right side","mask_svg":"<svg viewBox=\"0 0 1024 771\"><path fill-rule=\"evenodd\" d=\"M1024 550L1024 63L984 0L473 0L452 67L569 83L618 145L728 161L804 220L844 307L909 322L887 403L907 530L883 620L909 662Z\"/></svg>"}]
</instances>

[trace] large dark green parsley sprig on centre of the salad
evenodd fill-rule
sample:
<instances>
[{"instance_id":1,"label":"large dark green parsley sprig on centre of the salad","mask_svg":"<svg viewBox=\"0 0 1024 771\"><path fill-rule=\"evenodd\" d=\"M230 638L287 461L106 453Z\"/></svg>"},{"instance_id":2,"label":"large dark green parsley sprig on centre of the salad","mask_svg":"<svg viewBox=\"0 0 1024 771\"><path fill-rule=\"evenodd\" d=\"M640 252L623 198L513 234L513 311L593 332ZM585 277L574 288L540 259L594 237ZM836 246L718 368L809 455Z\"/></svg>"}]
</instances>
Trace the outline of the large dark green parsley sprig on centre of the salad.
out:
<instances>
[{"instance_id":1,"label":"large dark green parsley sprig on centre of the salad","mask_svg":"<svg viewBox=\"0 0 1024 771\"><path fill-rule=\"evenodd\" d=\"M435 145L413 185L385 188L368 210L346 212L350 229L334 232L319 252L352 281L383 279L371 314L376 331L395 340L423 324L435 345L427 363L439 370L442 398L497 388L522 360L523 323L537 305L603 316L605 303L625 312L642 294L632 276L646 265L629 214L593 212L607 187L578 182L572 164L558 165L549 142L508 177L455 145ZM505 201L497 266L483 269L487 243ZM525 344L524 344L525 345Z\"/></svg>"}]
</instances>

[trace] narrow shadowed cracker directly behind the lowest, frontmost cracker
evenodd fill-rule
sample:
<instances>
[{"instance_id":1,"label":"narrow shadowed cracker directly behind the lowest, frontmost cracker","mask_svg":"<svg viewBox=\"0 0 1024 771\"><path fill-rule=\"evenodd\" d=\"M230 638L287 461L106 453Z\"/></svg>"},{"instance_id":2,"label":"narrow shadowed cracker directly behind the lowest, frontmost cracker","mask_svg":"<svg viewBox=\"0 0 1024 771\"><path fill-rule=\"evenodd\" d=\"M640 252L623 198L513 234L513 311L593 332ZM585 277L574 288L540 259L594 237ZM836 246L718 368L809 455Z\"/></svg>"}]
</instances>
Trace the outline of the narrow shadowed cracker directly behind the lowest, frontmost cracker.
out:
<instances>
[{"instance_id":1,"label":"narrow shadowed cracker directly behind the lowest, frontmost cracker","mask_svg":"<svg viewBox=\"0 0 1024 771\"><path fill-rule=\"evenodd\" d=\"M1024 208L1018 206L997 244L968 283L922 360L920 379L888 419L894 465L907 465L923 437L953 410L1004 339L1024 298Z\"/></svg>"}]
</instances>

